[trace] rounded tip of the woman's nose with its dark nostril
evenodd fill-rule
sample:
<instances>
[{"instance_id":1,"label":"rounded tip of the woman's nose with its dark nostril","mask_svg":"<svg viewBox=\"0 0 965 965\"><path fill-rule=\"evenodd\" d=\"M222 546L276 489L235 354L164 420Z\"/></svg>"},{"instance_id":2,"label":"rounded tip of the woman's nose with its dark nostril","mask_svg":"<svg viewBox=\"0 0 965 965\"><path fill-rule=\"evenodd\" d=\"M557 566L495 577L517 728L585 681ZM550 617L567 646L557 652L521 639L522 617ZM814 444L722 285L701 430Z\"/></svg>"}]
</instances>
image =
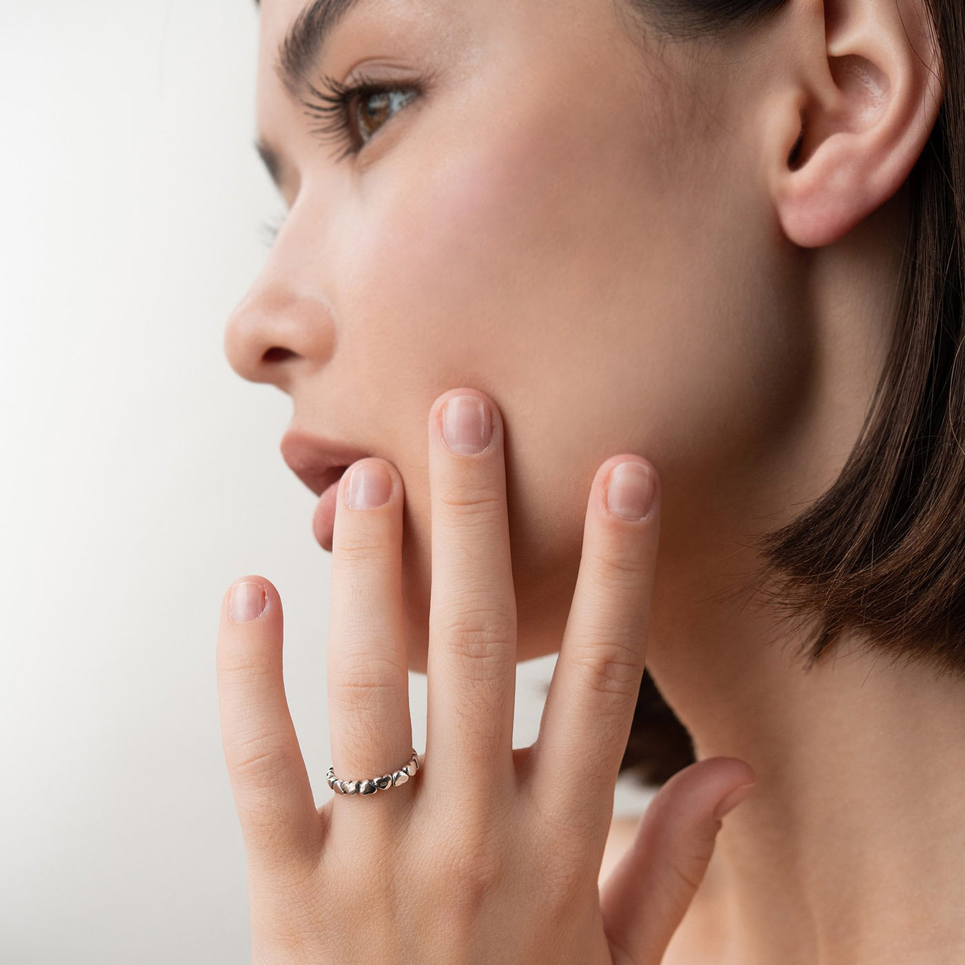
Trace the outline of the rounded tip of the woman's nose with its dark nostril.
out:
<instances>
[{"instance_id":1,"label":"rounded tip of the woman's nose with its dark nostril","mask_svg":"<svg viewBox=\"0 0 965 965\"><path fill-rule=\"evenodd\" d=\"M295 286L271 271L262 273L235 306L224 348L242 378L270 382L291 395L298 373L323 366L333 342L328 299L317 288Z\"/></svg>"}]
</instances>

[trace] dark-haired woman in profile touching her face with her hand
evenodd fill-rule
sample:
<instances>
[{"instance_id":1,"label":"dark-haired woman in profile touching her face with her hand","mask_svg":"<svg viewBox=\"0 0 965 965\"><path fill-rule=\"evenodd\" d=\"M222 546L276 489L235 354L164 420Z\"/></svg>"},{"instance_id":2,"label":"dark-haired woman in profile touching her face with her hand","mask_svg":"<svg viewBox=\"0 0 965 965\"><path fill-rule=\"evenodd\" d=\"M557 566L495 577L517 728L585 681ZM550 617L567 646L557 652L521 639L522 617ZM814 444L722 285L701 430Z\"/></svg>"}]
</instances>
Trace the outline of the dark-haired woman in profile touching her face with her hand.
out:
<instances>
[{"instance_id":1,"label":"dark-haired woman in profile touching her face with her hand","mask_svg":"<svg viewBox=\"0 0 965 965\"><path fill-rule=\"evenodd\" d=\"M963 960L960 0L260 16L289 213L225 346L321 496L336 793L245 577L255 960Z\"/></svg>"}]
</instances>

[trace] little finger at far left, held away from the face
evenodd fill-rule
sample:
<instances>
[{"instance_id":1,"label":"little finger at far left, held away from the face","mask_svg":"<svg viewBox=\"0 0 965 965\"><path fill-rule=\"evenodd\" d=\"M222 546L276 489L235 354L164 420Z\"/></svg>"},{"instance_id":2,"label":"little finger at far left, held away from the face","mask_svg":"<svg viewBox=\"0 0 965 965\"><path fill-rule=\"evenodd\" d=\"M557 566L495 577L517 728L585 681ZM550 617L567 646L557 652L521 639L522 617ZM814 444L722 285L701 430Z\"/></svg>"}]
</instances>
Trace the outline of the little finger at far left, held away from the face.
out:
<instances>
[{"instance_id":1,"label":"little finger at far left, held away from the face","mask_svg":"<svg viewBox=\"0 0 965 965\"><path fill-rule=\"evenodd\" d=\"M290 874L317 855L320 819L282 675L282 601L262 577L221 601L221 738L249 864Z\"/></svg>"}]
</instances>

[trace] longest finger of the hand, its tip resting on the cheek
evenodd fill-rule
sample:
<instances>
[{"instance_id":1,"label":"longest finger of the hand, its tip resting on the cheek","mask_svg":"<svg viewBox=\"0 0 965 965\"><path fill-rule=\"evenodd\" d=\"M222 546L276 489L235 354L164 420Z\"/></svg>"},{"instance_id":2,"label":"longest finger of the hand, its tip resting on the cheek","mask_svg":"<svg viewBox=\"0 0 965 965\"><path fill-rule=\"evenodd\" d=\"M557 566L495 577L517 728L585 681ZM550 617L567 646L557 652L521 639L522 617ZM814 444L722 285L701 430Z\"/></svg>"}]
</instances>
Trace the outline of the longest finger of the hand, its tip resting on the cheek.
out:
<instances>
[{"instance_id":1,"label":"longest finger of the hand, its tip resting on the cheek","mask_svg":"<svg viewBox=\"0 0 965 965\"><path fill-rule=\"evenodd\" d=\"M512 775L516 599L503 421L482 392L455 389L428 418L432 582L426 781L477 799Z\"/></svg>"}]
</instances>

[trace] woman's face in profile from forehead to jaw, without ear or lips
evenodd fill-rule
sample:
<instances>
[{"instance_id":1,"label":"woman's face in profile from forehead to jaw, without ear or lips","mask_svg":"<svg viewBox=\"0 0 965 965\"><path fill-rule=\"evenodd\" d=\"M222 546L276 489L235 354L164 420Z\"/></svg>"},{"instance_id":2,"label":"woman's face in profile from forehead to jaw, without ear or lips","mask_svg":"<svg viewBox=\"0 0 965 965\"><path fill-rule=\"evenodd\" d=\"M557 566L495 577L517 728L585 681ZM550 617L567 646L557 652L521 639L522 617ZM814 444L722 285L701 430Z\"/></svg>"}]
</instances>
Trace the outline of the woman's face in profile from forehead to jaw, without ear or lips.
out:
<instances>
[{"instance_id":1,"label":"woman's face in profile from forehead to jaw, without ear or lips","mask_svg":"<svg viewBox=\"0 0 965 965\"><path fill-rule=\"evenodd\" d=\"M741 528L807 404L753 47L644 43L622 0L343 2L304 65L309 107L275 69L304 6L262 0L257 125L289 212L229 359L290 394L292 427L399 469L414 670L428 410L459 387L495 400L518 654L550 652L604 459L656 466L662 566L683 572L708 527ZM387 90L351 98L343 128L326 77Z\"/></svg>"}]
</instances>

